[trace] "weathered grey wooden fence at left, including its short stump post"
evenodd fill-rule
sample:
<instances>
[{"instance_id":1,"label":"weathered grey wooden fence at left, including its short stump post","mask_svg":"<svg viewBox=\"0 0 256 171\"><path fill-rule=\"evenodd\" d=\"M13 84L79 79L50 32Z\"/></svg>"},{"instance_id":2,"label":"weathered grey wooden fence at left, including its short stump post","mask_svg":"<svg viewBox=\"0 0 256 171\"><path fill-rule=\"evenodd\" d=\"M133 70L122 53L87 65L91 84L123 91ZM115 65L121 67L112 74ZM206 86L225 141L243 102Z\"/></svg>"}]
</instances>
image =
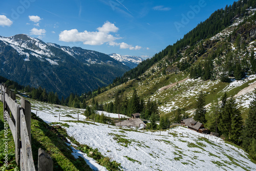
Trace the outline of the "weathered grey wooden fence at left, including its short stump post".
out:
<instances>
[{"instance_id":1,"label":"weathered grey wooden fence at left, including its short stump post","mask_svg":"<svg viewBox=\"0 0 256 171\"><path fill-rule=\"evenodd\" d=\"M20 99L21 107L16 102L16 95L0 84L4 108L4 119L8 124L15 143L15 160L20 170L35 170L31 148L31 104ZM41 148L38 149L38 170L53 170L51 157Z\"/></svg>"}]
</instances>

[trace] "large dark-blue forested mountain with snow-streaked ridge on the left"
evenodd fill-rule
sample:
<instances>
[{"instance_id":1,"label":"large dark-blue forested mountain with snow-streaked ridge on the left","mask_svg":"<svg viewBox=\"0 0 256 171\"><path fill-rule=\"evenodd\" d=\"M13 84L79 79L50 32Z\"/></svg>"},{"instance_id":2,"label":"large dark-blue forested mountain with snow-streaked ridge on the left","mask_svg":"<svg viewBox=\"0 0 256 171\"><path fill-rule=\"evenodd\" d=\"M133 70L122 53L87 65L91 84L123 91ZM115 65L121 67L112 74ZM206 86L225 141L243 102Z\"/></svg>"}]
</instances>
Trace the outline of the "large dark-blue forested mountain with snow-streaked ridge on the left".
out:
<instances>
[{"instance_id":1,"label":"large dark-blue forested mountain with snow-streaked ridge on the left","mask_svg":"<svg viewBox=\"0 0 256 171\"><path fill-rule=\"evenodd\" d=\"M130 70L109 55L18 34L0 36L1 76L68 96L106 86Z\"/></svg>"}]
</instances>

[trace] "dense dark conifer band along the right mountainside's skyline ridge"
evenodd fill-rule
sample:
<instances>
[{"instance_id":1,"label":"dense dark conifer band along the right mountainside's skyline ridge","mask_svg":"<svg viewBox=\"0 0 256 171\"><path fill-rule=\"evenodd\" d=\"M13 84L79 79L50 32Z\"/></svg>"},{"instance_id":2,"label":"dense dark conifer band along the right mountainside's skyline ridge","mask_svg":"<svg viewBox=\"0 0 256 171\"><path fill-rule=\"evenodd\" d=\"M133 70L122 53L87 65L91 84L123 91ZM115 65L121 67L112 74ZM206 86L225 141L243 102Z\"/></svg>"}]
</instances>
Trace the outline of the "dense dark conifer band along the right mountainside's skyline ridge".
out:
<instances>
[{"instance_id":1,"label":"dense dark conifer band along the right mountainside's skyline ridge","mask_svg":"<svg viewBox=\"0 0 256 171\"><path fill-rule=\"evenodd\" d=\"M184 37L178 40L174 45L169 45L164 50L155 54L152 58L142 61L138 67L126 72L121 78L116 79L113 84L118 85L129 79L139 77L156 62L162 60L166 56L168 56L169 61L172 63L179 61L181 55L178 54L180 54L179 52L181 52L184 48L188 49L187 52L195 49L195 46L197 46L199 41L210 38L228 26L231 26L236 18L250 16L252 11L249 9L254 8L256 8L255 0L241 0L234 2L233 5L226 6L225 9L215 11L209 16L208 19L198 24L196 28L185 34ZM200 55L200 52L198 53Z\"/></svg>"}]
</instances>

